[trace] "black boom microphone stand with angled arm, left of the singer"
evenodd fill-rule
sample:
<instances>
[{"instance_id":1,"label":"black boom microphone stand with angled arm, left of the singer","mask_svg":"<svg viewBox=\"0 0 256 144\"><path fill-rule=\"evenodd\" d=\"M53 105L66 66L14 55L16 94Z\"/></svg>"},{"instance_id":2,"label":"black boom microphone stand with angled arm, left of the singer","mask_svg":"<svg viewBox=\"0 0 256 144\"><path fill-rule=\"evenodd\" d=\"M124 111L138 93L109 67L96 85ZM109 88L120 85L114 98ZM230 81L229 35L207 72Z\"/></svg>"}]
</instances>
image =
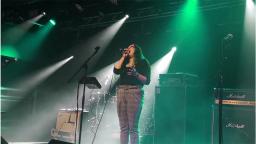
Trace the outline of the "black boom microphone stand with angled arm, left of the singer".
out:
<instances>
[{"instance_id":1,"label":"black boom microphone stand with angled arm, left of the singer","mask_svg":"<svg viewBox=\"0 0 256 144\"><path fill-rule=\"evenodd\" d=\"M76 143L76 132L77 132L77 122L78 122L78 97L79 97L79 85L81 84L81 81L83 78L87 77L87 70L88 70L88 63L89 61L97 54L99 51L100 47L97 46L95 48L94 53L89 56L83 64L80 66L80 68L72 75L72 77L68 80L68 83L72 81L72 79L82 70L85 70L84 76L79 80L78 82L78 87L77 87L77 108L76 108L76 129L75 129L75 143ZM82 124L83 124L83 112L84 112L84 102L85 102L85 84L83 86L83 97L82 97L82 110L81 110L81 115L80 115L80 122L79 122L79 144L81 143L81 134L82 134Z\"/></svg>"}]
</instances>

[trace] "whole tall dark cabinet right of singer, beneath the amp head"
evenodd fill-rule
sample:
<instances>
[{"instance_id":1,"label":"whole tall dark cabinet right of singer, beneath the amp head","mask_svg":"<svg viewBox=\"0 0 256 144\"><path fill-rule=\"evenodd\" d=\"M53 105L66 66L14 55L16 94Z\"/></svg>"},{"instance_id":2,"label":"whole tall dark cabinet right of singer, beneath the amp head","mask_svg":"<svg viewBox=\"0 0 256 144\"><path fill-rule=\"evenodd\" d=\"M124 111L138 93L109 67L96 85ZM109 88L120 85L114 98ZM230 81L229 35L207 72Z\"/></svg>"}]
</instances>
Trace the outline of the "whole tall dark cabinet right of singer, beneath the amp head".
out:
<instances>
[{"instance_id":1,"label":"whole tall dark cabinet right of singer, beneath the amp head","mask_svg":"<svg viewBox=\"0 0 256 144\"><path fill-rule=\"evenodd\" d=\"M204 99L198 86L156 87L155 144L205 144Z\"/></svg>"}]
</instances>

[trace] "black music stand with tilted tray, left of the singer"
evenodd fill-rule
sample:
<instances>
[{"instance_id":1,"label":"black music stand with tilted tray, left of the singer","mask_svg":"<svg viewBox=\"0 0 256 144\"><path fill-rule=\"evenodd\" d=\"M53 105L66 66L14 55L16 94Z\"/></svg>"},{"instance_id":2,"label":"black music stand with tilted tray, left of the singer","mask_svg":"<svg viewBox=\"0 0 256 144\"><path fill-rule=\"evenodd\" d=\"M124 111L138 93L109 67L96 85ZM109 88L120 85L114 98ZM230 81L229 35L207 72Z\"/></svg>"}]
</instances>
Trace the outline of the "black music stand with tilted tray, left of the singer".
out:
<instances>
[{"instance_id":1,"label":"black music stand with tilted tray, left of the singer","mask_svg":"<svg viewBox=\"0 0 256 144\"><path fill-rule=\"evenodd\" d=\"M81 134L82 134L82 125L83 125L83 110L84 110L84 101L85 101L85 87L87 86L89 89L100 89L101 85L96 79L96 77L82 77L79 80L78 84L78 90L77 92L79 93L79 85L83 84L83 97L82 97L82 112L80 116L80 127L79 127L79 144L81 143ZM76 136L75 136L76 139Z\"/></svg>"}]
</instances>

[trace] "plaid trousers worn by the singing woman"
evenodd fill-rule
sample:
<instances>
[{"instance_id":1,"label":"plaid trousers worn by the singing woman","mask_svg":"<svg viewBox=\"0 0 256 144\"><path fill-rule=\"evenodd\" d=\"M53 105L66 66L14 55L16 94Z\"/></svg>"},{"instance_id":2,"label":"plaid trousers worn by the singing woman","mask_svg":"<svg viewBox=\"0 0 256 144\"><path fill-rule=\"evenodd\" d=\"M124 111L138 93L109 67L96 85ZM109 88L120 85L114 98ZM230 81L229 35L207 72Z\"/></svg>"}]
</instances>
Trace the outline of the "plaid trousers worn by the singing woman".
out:
<instances>
[{"instance_id":1,"label":"plaid trousers worn by the singing woman","mask_svg":"<svg viewBox=\"0 0 256 144\"><path fill-rule=\"evenodd\" d=\"M142 86L120 85L117 87L117 114L121 144L139 144L138 124L143 106Z\"/></svg>"}]
</instances>

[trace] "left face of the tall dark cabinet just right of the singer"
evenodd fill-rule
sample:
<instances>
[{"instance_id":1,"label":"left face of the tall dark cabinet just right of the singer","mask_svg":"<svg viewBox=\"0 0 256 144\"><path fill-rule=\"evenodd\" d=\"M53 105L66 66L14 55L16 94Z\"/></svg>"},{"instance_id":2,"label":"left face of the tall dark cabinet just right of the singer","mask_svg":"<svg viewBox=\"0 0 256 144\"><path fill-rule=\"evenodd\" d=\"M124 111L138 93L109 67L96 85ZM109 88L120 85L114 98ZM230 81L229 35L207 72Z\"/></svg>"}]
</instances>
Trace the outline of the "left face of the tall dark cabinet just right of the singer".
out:
<instances>
[{"instance_id":1,"label":"left face of the tall dark cabinet just right of the singer","mask_svg":"<svg viewBox=\"0 0 256 144\"><path fill-rule=\"evenodd\" d=\"M156 87L155 144L185 143L184 87Z\"/></svg>"}]
</instances>

